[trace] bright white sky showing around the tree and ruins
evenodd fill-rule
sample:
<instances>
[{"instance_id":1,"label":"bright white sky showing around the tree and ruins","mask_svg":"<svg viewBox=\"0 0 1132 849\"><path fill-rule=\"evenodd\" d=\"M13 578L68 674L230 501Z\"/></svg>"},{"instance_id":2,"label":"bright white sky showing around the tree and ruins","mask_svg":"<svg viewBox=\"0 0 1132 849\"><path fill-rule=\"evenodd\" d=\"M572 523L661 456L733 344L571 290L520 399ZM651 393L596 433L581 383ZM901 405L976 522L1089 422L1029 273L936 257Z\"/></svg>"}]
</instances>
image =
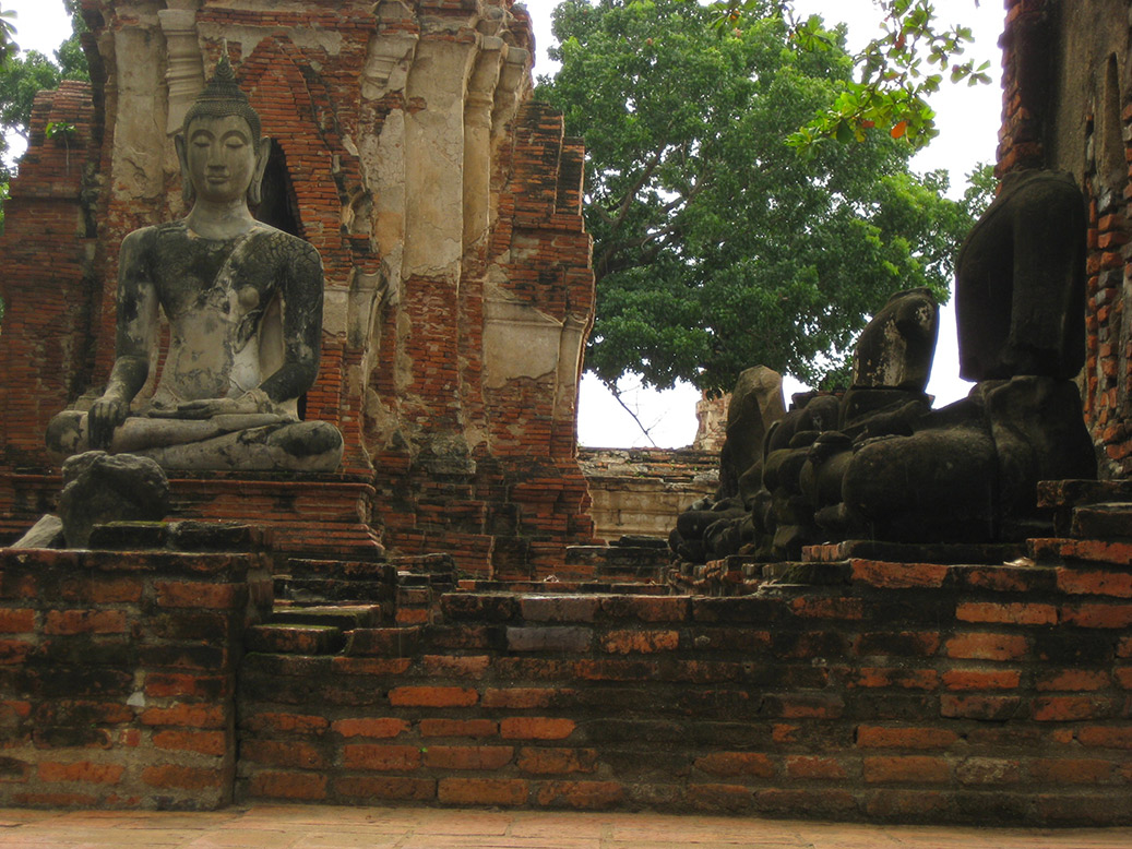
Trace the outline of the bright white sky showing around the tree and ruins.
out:
<instances>
[{"instance_id":1,"label":"bright white sky showing around the tree and ruins","mask_svg":"<svg viewBox=\"0 0 1132 849\"><path fill-rule=\"evenodd\" d=\"M546 50L552 43L550 12L555 0L528 0L526 7L534 22L538 57L535 74L552 72ZM878 25L877 7L873 0L796 0L799 10L822 15L826 22L843 20L849 24L852 45L860 45L873 37ZM975 45L969 54L978 61L989 60L996 84L976 88L950 87L932 101L937 112L940 137L918 154L914 168L918 171L944 169L951 173L952 192L959 195L966 185L966 174L980 162L994 162L995 146L1002 109L997 87L1001 54L998 35L1004 19L1002 0L938 0L942 15L952 15L955 22L970 26ZM0 0L0 8L17 14L17 43L25 50L52 51L67 37L70 22L61 0ZM943 24L955 23L945 18ZM928 384L928 392L936 395L936 404L949 403L967 394L968 384L958 377L954 312L943 310L940 344L935 354L936 367ZM751 363L752 366L758 363ZM787 393L799 385L788 381ZM692 386L658 393L653 391L624 393L660 446L688 445L696 430L695 404L700 394ZM789 397L788 397L789 401ZM583 445L631 447L648 445L633 420L597 379L582 380L578 404L578 438Z\"/></svg>"}]
</instances>

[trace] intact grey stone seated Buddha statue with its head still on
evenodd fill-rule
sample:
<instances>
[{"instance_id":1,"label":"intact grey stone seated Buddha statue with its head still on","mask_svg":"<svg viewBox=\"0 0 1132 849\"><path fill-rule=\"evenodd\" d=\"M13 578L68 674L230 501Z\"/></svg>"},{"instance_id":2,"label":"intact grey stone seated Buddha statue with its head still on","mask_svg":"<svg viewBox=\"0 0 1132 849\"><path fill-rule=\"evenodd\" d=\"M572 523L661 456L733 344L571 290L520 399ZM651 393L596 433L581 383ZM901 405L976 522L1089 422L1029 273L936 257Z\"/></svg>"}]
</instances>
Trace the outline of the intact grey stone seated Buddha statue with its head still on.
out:
<instances>
[{"instance_id":1,"label":"intact grey stone seated Buddha statue with its head still on","mask_svg":"<svg viewBox=\"0 0 1132 849\"><path fill-rule=\"evenodd\" d=\"M251 216L271 140L226 57L175 144L191 212L123 240L110 380L87 412L52 419L48 448L128 452L166 469L334 471L341 434L299 421L297 403L318 375L321 259ZM169 350L142 398L158 310Z\"/></svg>"}]
</instances>

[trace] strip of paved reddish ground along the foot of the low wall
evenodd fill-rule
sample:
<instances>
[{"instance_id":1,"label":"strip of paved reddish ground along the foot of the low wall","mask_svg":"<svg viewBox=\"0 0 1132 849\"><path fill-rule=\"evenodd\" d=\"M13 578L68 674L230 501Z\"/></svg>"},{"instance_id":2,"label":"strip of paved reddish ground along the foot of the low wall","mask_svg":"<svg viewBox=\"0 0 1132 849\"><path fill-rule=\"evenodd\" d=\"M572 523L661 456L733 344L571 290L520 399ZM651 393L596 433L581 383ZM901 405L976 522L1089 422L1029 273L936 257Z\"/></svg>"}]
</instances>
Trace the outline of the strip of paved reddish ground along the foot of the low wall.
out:
<instances>
[{"instance_id":1,"label":"strip of paved reddish ground along the foot of the low wall","mask_svg":"<svg viewBox=\"0 0 1132 849\"><path fill-rule=\"evenodd\" d=\"M5 849L1129 849L1132 829L837 825L719 816L255 805L208 814L0 809Z\"/></svg>"}]
</instances>

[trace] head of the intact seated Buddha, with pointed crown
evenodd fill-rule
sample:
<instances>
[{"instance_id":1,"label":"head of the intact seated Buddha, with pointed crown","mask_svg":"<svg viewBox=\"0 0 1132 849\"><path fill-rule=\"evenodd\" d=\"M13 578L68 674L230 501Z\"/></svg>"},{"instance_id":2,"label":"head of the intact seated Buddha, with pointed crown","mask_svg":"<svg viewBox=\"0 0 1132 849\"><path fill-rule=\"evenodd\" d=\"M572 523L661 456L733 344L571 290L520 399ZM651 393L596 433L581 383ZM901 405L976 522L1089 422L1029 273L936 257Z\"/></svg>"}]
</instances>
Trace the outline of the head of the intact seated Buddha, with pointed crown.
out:
<instances>
[{"instance_id":1,"label":"head of the intact seated Buddha, with pointed crown","mask_svg":"<svg viewBox=\"0 0 1132 849\"><path fill-rule=\"evenodd\" d=\"M186 204L259 203L271 139L260 136L259 115L240 91L226 51L174 144Z\"/></svg>"}]
</instances>

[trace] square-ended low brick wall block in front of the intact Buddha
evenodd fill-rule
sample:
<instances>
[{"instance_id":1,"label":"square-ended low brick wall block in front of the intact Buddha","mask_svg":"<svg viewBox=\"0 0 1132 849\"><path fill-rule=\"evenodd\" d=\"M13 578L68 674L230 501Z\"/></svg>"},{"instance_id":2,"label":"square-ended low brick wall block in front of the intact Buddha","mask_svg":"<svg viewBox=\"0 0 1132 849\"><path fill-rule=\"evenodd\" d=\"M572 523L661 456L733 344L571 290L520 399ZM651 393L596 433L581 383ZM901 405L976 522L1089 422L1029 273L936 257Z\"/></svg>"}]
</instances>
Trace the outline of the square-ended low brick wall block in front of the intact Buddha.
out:
<instances>
[{"instance_id":1,"label":"square-ended low brick wall block in front of the intact Buddha","mask_svg":"<svg viewBox=\"0 0 1132 849\"><path fill-rule=\"evenodd\" d=\"M0 804L229 804L271 599L265 555L0 550Z\"/></svg>"}]
</instances>

